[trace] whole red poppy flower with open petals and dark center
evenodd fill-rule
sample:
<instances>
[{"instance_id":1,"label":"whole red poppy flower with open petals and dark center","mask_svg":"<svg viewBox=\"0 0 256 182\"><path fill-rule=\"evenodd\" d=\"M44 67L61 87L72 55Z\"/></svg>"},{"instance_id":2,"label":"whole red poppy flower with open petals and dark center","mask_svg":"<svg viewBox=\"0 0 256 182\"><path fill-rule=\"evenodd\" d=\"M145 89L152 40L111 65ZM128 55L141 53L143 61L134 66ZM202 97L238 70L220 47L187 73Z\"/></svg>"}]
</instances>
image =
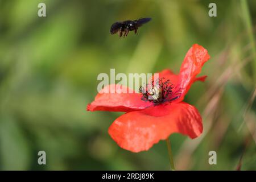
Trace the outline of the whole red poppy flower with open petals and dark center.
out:
<instances>
[{"instance_id":1,"label":"whole red poppy flower with open petals and dark center","mask_svg":"<svg viewBox=\"0 0 256 182\"><path fill-rule=\"evenodd\" d=\"M169 69L159 73L156 100L148 100L151 90L119 93L120 89L130 89L109 85L104 90L114 87L116 93L98 93L87 110L126 112L115 119L109 127L109 134L120 147L132 152L146 151L172 133L196 138L203 132L202 119L196 107L183 99L193 82L205 80L206 76L196 76L209 58L207 49L194 44L185 55L178 75Z\"/></svg>"}]
</instances>

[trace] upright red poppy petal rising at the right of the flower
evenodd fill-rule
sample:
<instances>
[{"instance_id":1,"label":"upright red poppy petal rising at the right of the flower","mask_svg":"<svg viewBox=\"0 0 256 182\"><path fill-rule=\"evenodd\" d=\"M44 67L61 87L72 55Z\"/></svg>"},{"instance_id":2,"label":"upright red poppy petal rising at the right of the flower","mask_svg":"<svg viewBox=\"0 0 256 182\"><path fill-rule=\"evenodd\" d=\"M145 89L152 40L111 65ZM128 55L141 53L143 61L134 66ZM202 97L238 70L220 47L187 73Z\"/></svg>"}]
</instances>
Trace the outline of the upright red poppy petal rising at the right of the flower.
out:
<instances>
[{"instance_id":1,"label":"upright red poppy petal rising at the right of the flower","mask_svg":"<svg viewBox=\"0 0 256 182\"><path fill-rule=\"evenodd\" d=\"M180 68L179 81L176 85L176 92L180 92L180 97L174 102L180 102L184 99L191 84L197 81L196 76L201 72L204 63L210 59L207 49L198 44L194 44L187 52ZM203 78L201 77L201 79Z\"/></svg>"}]
</instances>

